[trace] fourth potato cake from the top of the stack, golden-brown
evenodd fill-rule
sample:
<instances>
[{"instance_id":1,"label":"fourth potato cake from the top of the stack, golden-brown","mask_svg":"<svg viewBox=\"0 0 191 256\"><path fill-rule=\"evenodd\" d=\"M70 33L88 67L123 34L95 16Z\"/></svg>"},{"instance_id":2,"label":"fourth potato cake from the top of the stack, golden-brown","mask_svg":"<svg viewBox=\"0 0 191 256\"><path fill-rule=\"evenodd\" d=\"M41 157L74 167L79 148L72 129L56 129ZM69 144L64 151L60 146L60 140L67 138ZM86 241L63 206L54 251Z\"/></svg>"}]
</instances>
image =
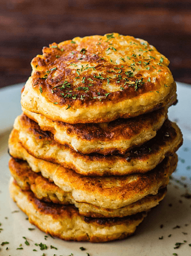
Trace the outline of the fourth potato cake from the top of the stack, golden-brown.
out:
<instances>
[{"instance_id":1,"label":"fourth potato cake from the top of the stack, golden-brown","mask_svg":"<svg viewBox=\"0 0 191 256\"><path fill-rule=\"evenodd\" d=\"M71 192L78 203L118 209L134 203L148 194L157 194L167 186L169 175L175 170L177 156L166 157L155 169L146 174L126 176L84 176L60 165L36 159L29 154L26 159L32 171L41 172L59 188Z\"/></svg>"}]
</instances>

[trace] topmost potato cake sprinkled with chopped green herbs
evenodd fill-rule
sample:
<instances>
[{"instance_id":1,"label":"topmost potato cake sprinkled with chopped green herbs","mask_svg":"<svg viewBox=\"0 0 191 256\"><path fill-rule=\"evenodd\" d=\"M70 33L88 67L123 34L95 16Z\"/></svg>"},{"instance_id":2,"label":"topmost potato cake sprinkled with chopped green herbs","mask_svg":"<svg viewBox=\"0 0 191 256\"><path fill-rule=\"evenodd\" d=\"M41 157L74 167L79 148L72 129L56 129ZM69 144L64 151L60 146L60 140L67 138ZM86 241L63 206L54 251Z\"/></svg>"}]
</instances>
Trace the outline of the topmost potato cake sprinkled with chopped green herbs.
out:
<instances>
[{"instance_id":1,"label":"topmost potato cake sprinkled with chopped green herbs","mask_svg":"<svg viewBox=\"0 0 191 256\"><path fill-rule=\"evenodd\" d=\"M53 121L102 123L176 102L168 59L117 33L50 44L32 62L21 104Z\"/></svg>"}]
</instances>

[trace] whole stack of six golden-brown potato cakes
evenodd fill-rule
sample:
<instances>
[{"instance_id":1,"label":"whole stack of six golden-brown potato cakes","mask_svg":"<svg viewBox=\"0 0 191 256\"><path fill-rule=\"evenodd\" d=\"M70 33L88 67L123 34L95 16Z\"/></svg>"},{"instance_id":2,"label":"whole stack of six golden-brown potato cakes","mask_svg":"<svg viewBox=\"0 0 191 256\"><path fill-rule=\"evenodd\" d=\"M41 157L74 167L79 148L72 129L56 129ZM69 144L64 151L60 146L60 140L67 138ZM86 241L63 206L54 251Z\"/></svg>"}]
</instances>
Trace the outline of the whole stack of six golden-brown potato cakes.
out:
<instances>
[{"instance_id":1,"label":"whole stack of six golden-brown potato cakes","mask_svg":"<svg viewBox=\"0 0 191 256\"><path fill-rule=\"evenodd\" d=\"M117 33L44 47L9 139L10 194L29 221L64 240L134 233L166 192L181 131L168 60Z\"/></svg>"}]
</instances>

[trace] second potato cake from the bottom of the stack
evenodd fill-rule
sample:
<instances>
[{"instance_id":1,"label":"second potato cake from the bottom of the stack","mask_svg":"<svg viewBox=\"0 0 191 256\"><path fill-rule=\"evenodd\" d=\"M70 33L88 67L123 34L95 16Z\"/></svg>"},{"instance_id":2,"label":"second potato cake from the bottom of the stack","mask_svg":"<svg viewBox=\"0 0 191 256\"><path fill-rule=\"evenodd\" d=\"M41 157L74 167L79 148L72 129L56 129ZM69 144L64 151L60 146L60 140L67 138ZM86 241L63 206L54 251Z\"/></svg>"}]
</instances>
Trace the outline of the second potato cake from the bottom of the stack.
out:
<instances>
[{"instance_id":1,"label":"second potato cake from the bottom of the stack","mask_svg":"<svg viewBox=\"0 0 191 256\"><path fill-rule=\"evenodd\" d=\"M19 162L17 162L19 161ZM46 202L56 204L74 204L81 215L87 217L124 217L133 215L138 212L148 211L152 207L159 204L166 192L167 188L162 188L155 195L148 195L132 204L119 209L109 209L95 206L93 204L78 203L74 200L70 192L63 191L47 178L42 177L40 173L31 170L26 161L13 159L9 161L11 175L22 190L32 190L35 197Z\"/></svg>"}]
</instances>

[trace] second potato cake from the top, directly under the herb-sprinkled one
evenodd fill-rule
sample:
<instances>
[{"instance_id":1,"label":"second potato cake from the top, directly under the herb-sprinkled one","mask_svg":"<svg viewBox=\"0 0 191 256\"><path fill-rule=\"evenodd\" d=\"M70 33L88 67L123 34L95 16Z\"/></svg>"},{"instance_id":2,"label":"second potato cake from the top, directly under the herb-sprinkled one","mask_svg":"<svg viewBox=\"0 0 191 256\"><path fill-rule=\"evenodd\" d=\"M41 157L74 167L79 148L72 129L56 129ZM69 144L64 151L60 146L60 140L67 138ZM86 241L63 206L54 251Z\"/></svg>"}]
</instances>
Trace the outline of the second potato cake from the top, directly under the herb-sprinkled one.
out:
<instances>
[{"instance_id":1,"label":"second potato cake from the top, directly under the herb-sprinkled one","mask_svg":"<svg viewBox=\"0 0 191 256\"><path fill-rule=\"evenodd\" d=\"M155 110L135 118L120 118L110 123L69 124L55 122L43 115L23 112L37 122L43 131L50 131L60 144L82 154L125 154L129 149L152 139L167 118L167 109ZM24 118L23 118L24 119Z\"/></svg>"}]
</instances>

